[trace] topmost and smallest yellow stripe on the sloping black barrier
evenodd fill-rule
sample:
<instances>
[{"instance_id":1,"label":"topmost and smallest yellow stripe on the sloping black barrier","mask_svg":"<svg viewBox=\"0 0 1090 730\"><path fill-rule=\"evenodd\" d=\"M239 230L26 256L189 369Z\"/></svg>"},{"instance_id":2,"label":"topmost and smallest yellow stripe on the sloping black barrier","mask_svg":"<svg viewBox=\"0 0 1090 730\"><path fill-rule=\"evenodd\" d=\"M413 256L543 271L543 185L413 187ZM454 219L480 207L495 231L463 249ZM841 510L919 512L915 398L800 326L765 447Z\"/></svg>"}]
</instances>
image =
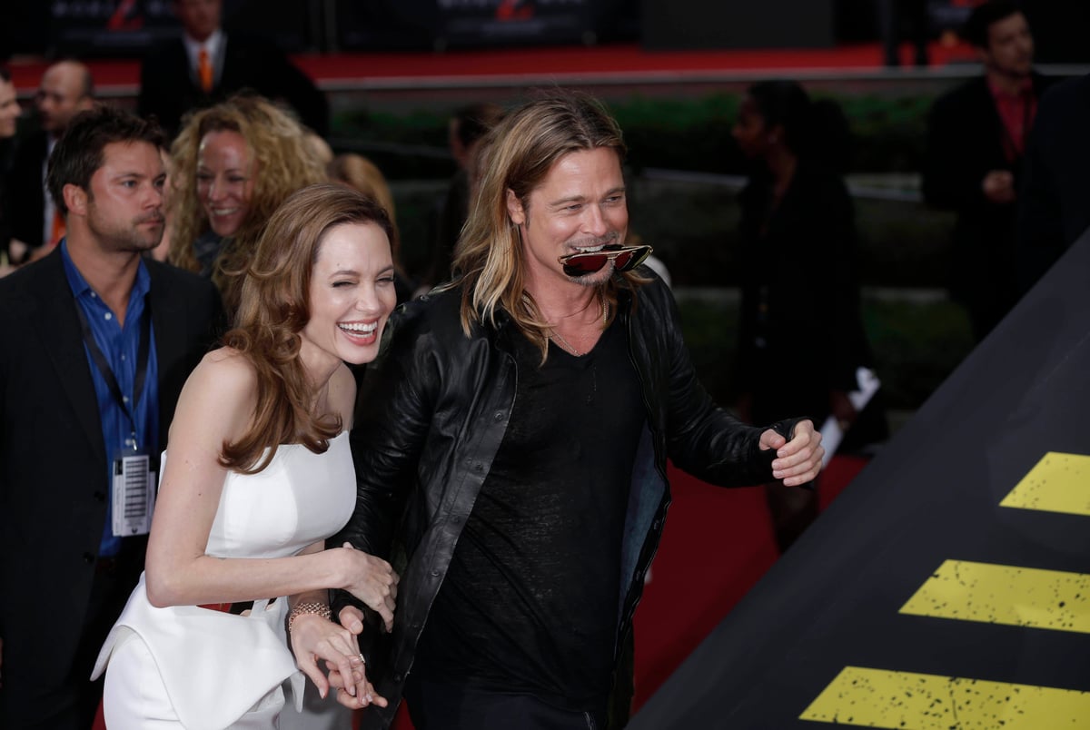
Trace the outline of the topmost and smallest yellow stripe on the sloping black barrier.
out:
<instances>
[{"instance_id":1,"label":"topmost and smallest yellow stripe on the sloping black barrier","mask_svg":"<svg viewBox=\"0 0 1090 730\"><path fill-rule=\"evenodd\" d=\"M1090 516L1090 457L1047 452L1000 504Z\"/></svg>"}]
</instances>

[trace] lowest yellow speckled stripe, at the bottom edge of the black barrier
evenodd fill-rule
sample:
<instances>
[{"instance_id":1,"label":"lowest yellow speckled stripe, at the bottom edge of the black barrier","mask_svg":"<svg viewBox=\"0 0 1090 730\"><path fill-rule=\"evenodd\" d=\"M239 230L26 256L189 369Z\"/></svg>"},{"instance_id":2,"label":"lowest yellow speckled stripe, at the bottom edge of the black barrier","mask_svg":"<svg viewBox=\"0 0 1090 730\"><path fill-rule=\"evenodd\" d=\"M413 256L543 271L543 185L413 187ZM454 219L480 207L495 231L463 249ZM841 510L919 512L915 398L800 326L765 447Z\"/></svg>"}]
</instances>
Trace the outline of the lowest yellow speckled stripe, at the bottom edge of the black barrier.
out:
<instances>
[{"instance_id":1,"label":"lowest yellow speckled stripe, at the bottom edge of the black barrier","mask_svg":"<svg viewBox=\"0 0 1090 730\"><path fill-rule=\"evenodd\" d=\"M801 720L913 730L1090 728L1090 692L846 667Z\"/></svg>"}]
</instances>

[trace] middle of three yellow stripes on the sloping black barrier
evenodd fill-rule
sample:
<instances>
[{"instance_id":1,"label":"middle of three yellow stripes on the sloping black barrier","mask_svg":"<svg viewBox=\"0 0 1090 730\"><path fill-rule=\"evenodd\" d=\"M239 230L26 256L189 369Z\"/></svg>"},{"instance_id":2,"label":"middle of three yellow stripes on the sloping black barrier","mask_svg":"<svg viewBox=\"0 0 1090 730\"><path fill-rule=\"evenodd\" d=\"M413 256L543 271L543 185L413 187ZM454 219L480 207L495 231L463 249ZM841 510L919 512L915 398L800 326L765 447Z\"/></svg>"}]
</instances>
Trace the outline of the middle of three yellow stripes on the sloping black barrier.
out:
<instances>
[{"instance_id":1,"label":"middle of three yellow stripes on the sloping black barrier","mask_svg":"<svg viewBox=\"0 0 1090 730\"><path fill-rule=\"evenodd\" d=\"M1090 633L1090 575L947 560L900 612Z\"/></svg>"}]
</instances>

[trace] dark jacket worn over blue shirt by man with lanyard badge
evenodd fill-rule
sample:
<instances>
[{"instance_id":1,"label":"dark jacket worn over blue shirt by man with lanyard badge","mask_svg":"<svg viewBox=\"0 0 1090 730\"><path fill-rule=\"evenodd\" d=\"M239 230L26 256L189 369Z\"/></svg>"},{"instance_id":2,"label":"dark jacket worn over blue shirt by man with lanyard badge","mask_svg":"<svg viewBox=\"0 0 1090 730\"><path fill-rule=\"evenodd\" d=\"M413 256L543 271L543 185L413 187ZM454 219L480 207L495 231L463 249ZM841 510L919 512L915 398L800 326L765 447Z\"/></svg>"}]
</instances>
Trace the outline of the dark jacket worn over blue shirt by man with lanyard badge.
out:
<instances>
[{"instance_id":1,"label":"dark jacket worn over blue shirt by man with lanyard badge","mask_svg":"<svg viewBox=\"0 0 1090 730\"><path fill-rule=\"evenodd\" d=\"M157 457L221 307L207 280L146 264L159 372ZM106 524L107 453L76 306L60 251L0 279L4 728L26 727L27 717L45 715L69 681ZM136 562L130 591L143 565ZM105 633L97 637L102 640ZM89 681L89 665L74 670Z\"/></svg>"}]
</instances>

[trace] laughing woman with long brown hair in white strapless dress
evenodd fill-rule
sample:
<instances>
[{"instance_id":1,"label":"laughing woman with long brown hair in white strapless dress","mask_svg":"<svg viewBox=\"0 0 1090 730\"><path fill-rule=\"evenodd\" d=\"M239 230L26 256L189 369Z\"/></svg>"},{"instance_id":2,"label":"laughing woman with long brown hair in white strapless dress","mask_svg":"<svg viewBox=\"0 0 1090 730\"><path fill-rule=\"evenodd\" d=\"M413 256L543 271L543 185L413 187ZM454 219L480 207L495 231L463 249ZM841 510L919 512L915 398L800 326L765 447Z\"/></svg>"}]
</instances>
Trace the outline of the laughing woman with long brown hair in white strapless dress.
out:
<instances>
[{"instance_id":1,"label":"laughing woman with long brown hair in white strapless dress","mask_svg":"<svg viewBox=\"0 0 1090 730\"><path fill-rule=\"evenodd\" d=\"M344 363L378 352L395 304L390 240L383 208L340 186L303 188L269 219L234 329L182 390L145 574L95 669L111 730L274 728L284 680L302 696L296 660L323 697L319 661L353 678L362 705L385 705L353 633L363 624L330 621L328 588L389 629L397 575L324 540L355 503Z\"/></svg>"}]
</instances>

